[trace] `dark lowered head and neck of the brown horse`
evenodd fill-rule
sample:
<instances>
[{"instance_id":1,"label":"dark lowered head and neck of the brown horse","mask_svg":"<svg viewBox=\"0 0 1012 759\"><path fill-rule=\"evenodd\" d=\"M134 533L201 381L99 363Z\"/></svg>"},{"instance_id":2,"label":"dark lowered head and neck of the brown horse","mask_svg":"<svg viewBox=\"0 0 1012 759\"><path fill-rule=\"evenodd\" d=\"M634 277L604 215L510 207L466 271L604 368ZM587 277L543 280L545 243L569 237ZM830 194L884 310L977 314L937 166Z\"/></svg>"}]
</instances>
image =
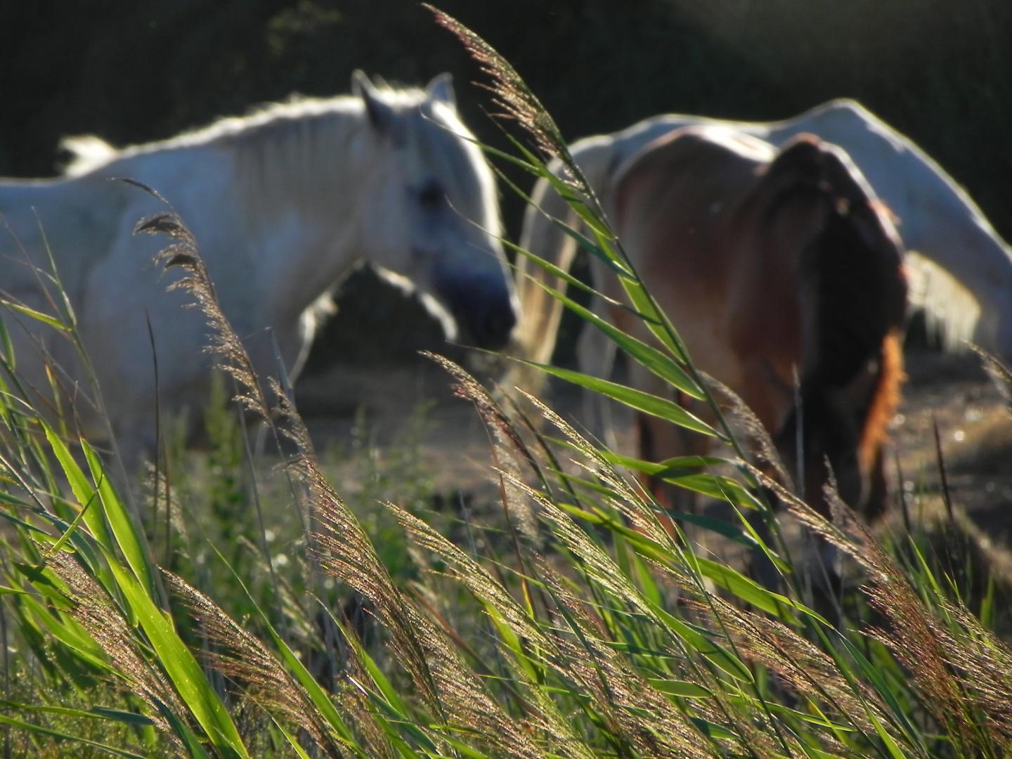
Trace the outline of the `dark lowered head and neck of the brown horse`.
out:
<instances>
[{"instance_id":1,"label":"dark lowered head and neck of the brown horse","mask_svg":"<svg viewBox=\"0 0 1012 759\"><path fill-rule=\"evenodd\" d=\"M876 459L902 375L899 235L847 155L811 136L787 143L759 185L763 217L774 227L789 220L796 234L809 495L820 500L814 486L828 459L844 500L875 511Z\"/></svg>"}]
</instances>

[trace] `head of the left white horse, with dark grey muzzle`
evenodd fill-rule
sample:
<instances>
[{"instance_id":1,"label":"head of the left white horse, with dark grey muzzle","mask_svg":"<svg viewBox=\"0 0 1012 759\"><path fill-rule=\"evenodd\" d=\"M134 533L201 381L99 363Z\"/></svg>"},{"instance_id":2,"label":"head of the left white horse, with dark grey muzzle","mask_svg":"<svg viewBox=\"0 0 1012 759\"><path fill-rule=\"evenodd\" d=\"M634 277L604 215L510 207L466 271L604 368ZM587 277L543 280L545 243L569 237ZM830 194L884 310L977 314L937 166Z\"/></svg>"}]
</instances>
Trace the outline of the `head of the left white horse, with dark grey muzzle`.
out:
<instances>
[{"instance_id":1,"label":"head of the left white horse, with dark grey muzzle","mask_svg":"<svg viewBox=\"0 0 1012 759\"><path fill-rule=\"evenodd\" d=\"M397 92L355 72L352 90L372 149L361 187L363 253L448 312L462 339L503 347L518 306L495 180L457 114L449 75Z\"/></svg>"}]
</instances>

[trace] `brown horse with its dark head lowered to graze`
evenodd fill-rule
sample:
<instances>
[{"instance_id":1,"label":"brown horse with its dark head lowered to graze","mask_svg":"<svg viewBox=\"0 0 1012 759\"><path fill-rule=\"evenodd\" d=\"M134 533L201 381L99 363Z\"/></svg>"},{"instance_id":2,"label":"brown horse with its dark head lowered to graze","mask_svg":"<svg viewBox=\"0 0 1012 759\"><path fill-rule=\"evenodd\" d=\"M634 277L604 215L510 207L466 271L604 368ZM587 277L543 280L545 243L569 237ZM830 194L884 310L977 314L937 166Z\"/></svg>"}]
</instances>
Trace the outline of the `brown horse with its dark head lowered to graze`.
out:
<instances>
[{"instance_id":1,"label":"brown horse with its dark head lowered to graze","mask_svg":"<svg viewBox=\"0 0 1012 759\"><path fill-rule=\"evenodd\" d=\"M809 502L825 511L828 461L844 501L869 517L879 512L907 285L899 237L846 155L811 136L776 151L729 130L690 126L591 182L696 366L755 412ZM613 276L594 273L604 294L621 300ZM532 314L544 305L539 297L523 301L534 329L556 318ZM607 312L651 339L628 311ZM581 352L603 354L587 340ZM629 383L670 392L637 365ZM639 419L639 431L640 452L653 460L705 452L705 438L654 417Z\"/></svg>"}]
</instances>

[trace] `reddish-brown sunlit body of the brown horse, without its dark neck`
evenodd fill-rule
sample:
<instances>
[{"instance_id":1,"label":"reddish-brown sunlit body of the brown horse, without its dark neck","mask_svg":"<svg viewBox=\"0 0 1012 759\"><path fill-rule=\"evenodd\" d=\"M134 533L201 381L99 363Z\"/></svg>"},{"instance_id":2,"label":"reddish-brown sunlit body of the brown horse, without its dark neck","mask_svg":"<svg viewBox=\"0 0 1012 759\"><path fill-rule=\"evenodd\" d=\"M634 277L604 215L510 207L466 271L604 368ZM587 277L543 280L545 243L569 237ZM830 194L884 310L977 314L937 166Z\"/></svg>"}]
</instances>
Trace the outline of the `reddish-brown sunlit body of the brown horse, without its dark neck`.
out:
<instances>
[{"instance_id":1,"label":"reddish-brown sunlit body of the brown horse, without its dark neck","mask_svg":"<svg viewBox=\"0 0 1012 759\"><path fill-rule=\"evenodd\" d=\"M612 193L619 239L696 364L740 393L754 387L747 378L759 360L752 355L755 336L737 336L743 311L753 312L743 322L750 327L757 311L765 314L761 358L788 383L798 352L792 334L796 308L784 307L790 282L777 275L782 264L754 255L746 213L749 193L771 155L758 141L686 128L636 154L617 172ZM752 292L756 284L761 299ZM612 316L641 329L617 311ZM768 373L763 370L763 384ZM746 395L764 423L775 425L782 417L765 408L769 393Z\"/></svg>"}]
</instances>

